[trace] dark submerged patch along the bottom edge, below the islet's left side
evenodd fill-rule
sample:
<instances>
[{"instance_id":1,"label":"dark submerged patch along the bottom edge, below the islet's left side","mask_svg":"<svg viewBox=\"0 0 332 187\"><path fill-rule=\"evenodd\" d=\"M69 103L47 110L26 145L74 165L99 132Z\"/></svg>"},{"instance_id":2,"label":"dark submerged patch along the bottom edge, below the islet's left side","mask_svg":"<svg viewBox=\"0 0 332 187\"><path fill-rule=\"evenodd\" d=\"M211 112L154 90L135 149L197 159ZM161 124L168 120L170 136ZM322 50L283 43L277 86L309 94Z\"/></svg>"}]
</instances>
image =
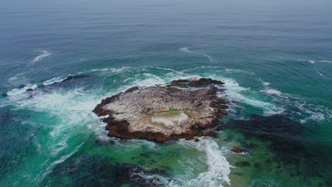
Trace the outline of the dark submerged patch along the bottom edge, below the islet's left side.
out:
<instances>
[{"instance_id":1,"label":"dark submerged patch along the bottom edge, below the islet's left side","mask_svg":"<svg viewBox=\"0 0 332 187\"><path fill-rule=\"evenodd\" d=\"M158 176L169 176L160 169L145 170L132 164L109 164L109 159L77 155L57 164L40 186L164 186ZM65 185L67 184L67 185Z\"/></svg>"}]
</instances>

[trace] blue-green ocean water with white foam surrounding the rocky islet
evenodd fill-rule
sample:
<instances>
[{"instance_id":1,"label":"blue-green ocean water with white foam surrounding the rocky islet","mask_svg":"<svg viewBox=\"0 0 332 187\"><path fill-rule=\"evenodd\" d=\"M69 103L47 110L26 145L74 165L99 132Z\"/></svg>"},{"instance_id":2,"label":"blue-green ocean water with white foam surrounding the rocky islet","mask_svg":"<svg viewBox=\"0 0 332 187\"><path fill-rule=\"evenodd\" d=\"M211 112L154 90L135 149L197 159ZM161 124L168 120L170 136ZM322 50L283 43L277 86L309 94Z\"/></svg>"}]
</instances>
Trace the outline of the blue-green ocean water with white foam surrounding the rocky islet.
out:
<instances>
[{"instance_id":1,"label":"blue-green ocean water with white foam surrounding the rocky islet","mask_svg":"<svg viewBox=\"0 0 332 187\"><path fill-rule=\"evenodd\" d=\"M0 186L141 186L131 167L160 186L332 186L331 18L328 0L1 1ZM92 113L199 77L226 83L216 138L118 140Z\"/></svg>"}]
</instances>

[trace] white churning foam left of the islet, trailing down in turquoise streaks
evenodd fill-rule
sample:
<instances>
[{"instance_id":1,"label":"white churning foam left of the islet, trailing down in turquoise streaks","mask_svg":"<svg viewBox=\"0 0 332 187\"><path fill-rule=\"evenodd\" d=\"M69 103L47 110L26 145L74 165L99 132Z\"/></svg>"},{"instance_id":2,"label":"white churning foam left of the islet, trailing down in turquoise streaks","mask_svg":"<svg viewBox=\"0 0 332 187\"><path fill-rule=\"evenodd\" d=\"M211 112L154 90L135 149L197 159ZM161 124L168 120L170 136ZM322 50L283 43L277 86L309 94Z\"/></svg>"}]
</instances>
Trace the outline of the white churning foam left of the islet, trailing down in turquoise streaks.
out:
<instances>
[{"instance_id":1,"label":"white churning foam left of the islet, trailing down in turquoise streaks","mask_svg":"<svg viewBox=\"0 0 332 187\"><path fill-rule=\"evenodd\" d=\"M94 91L92 94L82 88L76 88L71 91L40 92L28 99L24 96L21 96L21 99L8 97L16 108L29 110L31 113L33 111L43 112L43 118L48 118L43 123L43 127L50 130L49 135L46 140L40 139L38 141L43 141L41 150L43 154L48 154L50 159L40 160L38 164L40 174L35 178L36 181L42 181L57 164L65 162L83 144L77 146L77 142L72 142L71 145L67 145L67 140L79 133L85 133L85 131L94 132L94 130L99 130L94 127L87 128L88 125L94 124L95 127L99 125L98 120L94 120L96 115L92 113L92 108L103 97L98 96L97 92Z\"/></svg>"}]
</instances>

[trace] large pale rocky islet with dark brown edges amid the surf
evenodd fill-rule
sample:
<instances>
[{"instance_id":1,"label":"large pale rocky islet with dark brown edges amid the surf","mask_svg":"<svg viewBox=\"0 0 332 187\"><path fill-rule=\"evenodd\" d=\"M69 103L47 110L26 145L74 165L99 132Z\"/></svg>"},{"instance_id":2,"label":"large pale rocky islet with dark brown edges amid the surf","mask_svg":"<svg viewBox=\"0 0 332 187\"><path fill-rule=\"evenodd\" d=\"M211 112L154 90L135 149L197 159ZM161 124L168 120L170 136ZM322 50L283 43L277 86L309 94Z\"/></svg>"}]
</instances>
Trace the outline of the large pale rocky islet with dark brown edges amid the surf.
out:
<instances>
[{"instance_id":1,"label":"large pale rocky islet with dark brown edges amid the surf","mask_svg":"<svg viewBox=\"0 0 332 187\"><path fill-rule=\"evenodd\" d=\"M111 137L155 142L215 137L216 132L205 129L214 128L218 118L226 115L226 101L216 96L218 91L223 91L216 86L222 84L202 78L172 81L168 86L135 86L125 93L103 99L94 108L94 113L106 115L103 121L107 123Z\"/></svg>"}]
</instances>

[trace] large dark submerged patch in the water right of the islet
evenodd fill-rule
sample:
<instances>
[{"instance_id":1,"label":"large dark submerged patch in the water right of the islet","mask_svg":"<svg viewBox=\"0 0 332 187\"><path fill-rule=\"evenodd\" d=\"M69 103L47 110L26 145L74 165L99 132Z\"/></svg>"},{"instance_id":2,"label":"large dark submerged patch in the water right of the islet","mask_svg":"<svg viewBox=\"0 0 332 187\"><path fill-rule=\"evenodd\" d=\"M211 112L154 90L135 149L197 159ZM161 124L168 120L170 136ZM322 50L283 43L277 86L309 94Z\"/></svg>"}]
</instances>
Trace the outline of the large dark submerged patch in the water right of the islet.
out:
<instances>
[{"instance_id":1,"label":"large dark submerged patch in the water right of the islet","mask_svg":"<svg viewBox=\"0 0 332 187\"><path fill-rule=\"evenodd\" d=\"M246 137L259 137L263 141L269 141L270 151L275 154L273 159L294 166L304 176L332 176L332 171L327 169L332 167L332 160L322 156L326 155L326 147L312 145L306 140L304 133L311 130L310 127L284 115L253 115L250 120L229 120L226 128L239 130Z\"/></svg>"}]
</instances>

